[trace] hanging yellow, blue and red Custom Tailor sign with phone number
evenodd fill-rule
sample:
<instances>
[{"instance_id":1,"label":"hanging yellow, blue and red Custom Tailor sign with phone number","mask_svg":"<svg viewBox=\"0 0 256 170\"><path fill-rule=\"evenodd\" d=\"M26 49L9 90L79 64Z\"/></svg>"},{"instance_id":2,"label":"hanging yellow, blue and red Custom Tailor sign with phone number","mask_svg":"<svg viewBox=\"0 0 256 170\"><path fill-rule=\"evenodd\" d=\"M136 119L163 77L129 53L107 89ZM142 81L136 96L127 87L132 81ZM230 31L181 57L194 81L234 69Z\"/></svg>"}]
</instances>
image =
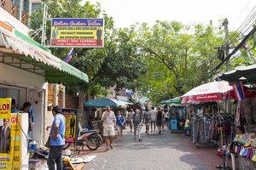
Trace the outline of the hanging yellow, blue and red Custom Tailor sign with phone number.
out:
<instances>
[{"instance_id":1,"label":"hanging yellow, blue and red Custom Tailor sign with phone number","mask_svg":"<svg viewBox=\"0 0 256 170\"><path fill-rule=\"evenodd\" d=\"M51 19L50 46L102 48L103 19Z\"/></svg>"}]
</instances>

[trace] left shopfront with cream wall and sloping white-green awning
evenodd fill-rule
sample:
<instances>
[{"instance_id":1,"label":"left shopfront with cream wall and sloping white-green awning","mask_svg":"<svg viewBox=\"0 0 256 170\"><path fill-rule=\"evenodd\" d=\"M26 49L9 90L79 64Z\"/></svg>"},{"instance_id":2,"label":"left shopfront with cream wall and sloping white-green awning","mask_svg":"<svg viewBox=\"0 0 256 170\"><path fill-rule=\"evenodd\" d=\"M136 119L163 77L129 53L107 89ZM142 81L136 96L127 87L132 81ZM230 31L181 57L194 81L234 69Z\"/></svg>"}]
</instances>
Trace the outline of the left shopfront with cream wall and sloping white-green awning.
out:
<instances>
[{"instance_id":1,"label":"left shopfront with cream wall and sloping white-green awning","mask_svg":"<svg viewBox=\"0 0 256 170\"><path fill-rule=\"evenodd\" d=\"M1 25L0 98L15 99L18 109L26 101L32 103L32 139L39 145L43 145L45 139L48 82L88 82L88 77L20 31L7 24Z\"/></svg>"}]
</instances>

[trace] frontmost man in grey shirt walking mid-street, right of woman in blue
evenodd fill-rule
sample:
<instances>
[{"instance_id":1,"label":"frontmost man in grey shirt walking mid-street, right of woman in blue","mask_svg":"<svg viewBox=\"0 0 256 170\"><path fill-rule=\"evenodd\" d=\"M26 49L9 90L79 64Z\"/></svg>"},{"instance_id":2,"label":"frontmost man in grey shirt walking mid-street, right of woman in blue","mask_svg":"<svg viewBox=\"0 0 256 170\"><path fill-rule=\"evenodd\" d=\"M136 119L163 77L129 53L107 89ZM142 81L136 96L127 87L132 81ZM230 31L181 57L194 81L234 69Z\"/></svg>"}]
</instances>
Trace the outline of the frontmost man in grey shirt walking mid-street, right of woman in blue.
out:
<instances>
[{"instance_id":1,"label":"frontmost man in grey shirt walking mid-street, right of woman in blue","mask_svg":"<svg viewBox=\"0 0 256 170\"><path fill-rule=\"evenodd\" d=\"M131 123L134 129L134 137L133 139L137 139L136 134L138 134L138 141L142 141L141 139L141 129L143 127L143 116L140 110L136 110L135 114L131 118Z\"/></svg>"}]
</instances>

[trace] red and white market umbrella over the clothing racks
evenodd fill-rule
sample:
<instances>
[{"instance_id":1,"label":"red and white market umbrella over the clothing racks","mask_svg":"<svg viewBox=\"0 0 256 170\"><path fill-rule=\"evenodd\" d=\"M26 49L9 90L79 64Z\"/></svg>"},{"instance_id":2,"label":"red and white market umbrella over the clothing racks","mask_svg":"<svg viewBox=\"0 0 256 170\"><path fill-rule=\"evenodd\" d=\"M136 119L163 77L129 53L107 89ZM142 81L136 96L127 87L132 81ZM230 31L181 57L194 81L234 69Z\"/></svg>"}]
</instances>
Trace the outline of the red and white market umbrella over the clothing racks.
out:
<instances>
[{"instance_id":1,"label":"red and white market umbrella over the clothing racks","mask_svg":"<svg viewBox=\"0 0 256 170\"><path fill-rule=\"evenodd\" d=\"M191 89L181 96L181 103L208 102L235 99L233 87L229 82L209 82Z\"/></svg>"}]
</instances>

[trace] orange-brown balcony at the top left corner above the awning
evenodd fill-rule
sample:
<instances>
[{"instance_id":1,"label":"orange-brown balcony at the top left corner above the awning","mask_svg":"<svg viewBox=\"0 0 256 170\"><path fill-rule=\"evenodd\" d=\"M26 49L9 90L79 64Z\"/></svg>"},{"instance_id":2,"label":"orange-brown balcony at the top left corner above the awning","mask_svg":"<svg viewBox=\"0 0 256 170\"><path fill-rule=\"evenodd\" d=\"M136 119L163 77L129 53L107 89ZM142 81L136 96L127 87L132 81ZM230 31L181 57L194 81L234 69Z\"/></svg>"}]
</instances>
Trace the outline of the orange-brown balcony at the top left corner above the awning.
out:
<instances>
[{"instance_id":1,"label":"orange-brown balcony at the top left corner above the awning","mask_svg":"<svg viewBox=\"0 0 256 170\"><path fill-rule=\"evenodd\" d=\"M9 14L13 15L17 20L18 18L18 6L11 0L0 0L0 7L4 8ZM26 25L27 16L24 11L21 14L21 23Z\"/></svg>"}]
</instances>

